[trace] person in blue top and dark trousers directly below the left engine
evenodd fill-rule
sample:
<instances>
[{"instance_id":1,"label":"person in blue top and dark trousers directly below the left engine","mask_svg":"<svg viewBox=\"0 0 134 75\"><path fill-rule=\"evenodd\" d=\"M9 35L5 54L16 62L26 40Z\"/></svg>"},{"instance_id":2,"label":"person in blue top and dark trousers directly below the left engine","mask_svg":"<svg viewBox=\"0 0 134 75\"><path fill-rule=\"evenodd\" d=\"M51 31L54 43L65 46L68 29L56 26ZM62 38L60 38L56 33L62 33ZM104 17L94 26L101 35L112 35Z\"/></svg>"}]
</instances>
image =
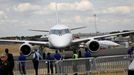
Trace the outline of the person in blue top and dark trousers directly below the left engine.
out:
<instances>
[{"instance_id":1,"label":"person in blue top and dark trousers directly below the left engine","mask_svg":"<svg viewBox=\"0 0 134 75\"><path fill-rule=\"evenodd\" d=\"M26 61L26 57L20 52L20 56L18 58L19 60L19 71L21 75L25 75L26 74L26 70L25 70L25 61Z\"/></svg>"}]
</instances>

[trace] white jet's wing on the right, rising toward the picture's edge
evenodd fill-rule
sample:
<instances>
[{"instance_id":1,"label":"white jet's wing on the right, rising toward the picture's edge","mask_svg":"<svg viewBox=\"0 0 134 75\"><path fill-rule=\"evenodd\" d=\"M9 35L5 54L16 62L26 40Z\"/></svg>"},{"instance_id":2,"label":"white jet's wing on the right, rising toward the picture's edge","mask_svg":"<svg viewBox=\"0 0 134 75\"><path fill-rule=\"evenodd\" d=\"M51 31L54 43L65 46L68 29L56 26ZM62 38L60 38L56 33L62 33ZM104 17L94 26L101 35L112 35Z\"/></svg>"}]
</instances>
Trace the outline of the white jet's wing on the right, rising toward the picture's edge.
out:
<instances>
[{"instance_id":1,"label":"white jet's wing on the right, rising toward the picture's edge","mask_svg":"<svg viewBox=\"0 0 134 75\"><path fill-rule=\"evenodd\" d=\"M132 34L132 33L134 33L134 31L121 32L121 33L114 33L114 34L106 34L106 35L88 37L88 38L83 38L83 39L76 39L76 40L73 40L73 43L87 42L87 41L93 40L93 39L99 39L99 38L103 38L103 37L116 36L116 35L123 35L123 34Z\"/></svg>"}]
</instances>

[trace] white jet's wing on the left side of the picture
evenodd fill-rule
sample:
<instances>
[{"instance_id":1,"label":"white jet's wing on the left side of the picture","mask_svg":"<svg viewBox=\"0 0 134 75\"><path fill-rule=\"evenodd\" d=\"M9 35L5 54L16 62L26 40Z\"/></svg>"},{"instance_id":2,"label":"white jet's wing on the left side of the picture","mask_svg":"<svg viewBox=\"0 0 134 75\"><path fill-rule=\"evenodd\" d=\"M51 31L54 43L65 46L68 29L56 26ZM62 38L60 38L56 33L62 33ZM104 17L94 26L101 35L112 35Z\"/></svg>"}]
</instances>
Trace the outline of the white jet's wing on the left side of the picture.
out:
<instances>
[{"instance_id":1,"label":"white jet's wing on the left side of the picture","mask_svg":"<svg viewBox=\"0 0 134 75\"><path fill-rule=\"evenodd\" d=\"M5 43L29 43L29 44L36 44L36 45L48 45L48 42L44 42L44 41L5 40L5 39L0 39L0 42L5 42Z\"/></svg>"}]
</instances>

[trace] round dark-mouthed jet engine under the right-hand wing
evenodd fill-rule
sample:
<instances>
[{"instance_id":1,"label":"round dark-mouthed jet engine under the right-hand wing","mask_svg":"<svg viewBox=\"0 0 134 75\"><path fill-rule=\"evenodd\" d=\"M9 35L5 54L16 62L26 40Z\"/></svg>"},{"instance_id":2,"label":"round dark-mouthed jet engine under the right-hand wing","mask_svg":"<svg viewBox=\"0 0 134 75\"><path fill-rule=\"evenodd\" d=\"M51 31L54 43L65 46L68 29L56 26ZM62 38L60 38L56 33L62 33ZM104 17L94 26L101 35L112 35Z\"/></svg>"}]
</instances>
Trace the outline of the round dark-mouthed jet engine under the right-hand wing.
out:
<instances>
[{"instance_id":1,"label":"round dark-mouthed jet engine under the right-hand wing","mask_svg":"<svg viewBox=\"0 0 134 75\"><path fill-rule=\"evenodd\" d=\"M100 44L96 40L88 41L86 46L91 52L97 52L100 48Z\"/></svg>"}]
</instances>

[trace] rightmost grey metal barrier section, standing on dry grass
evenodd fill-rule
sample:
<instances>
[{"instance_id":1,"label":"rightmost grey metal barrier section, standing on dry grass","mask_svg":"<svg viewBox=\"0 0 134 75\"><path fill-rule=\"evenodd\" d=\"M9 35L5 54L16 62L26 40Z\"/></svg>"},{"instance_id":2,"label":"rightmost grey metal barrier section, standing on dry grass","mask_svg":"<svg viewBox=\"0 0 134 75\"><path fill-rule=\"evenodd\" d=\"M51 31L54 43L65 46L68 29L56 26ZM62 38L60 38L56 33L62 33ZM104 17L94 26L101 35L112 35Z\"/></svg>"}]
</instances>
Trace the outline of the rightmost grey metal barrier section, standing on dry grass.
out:
<instances>
[{"instance_id":1,"label":"rightmost grey metal barrier section, standing on dry grass","mask_svg":"<svg viewBox=\"0 0 134 75\"><path fill-rule=\"evenodd\" d=\"M128 55L98 57L95 59L97 71L125 70L130 64Z\"/></svg>"}]
</instances>

